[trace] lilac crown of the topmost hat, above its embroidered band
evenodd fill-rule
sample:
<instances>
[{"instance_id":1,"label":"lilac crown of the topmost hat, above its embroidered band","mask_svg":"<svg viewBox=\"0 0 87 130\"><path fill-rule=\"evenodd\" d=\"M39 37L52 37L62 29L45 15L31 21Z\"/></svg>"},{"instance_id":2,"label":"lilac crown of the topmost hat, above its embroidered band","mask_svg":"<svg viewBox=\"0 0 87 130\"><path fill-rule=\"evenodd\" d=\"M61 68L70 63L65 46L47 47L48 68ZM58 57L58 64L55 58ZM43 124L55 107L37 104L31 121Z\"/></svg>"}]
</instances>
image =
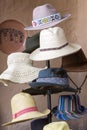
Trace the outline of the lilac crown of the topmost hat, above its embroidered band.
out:
<instances>
[{"instance_id":1,"label":"lilac crown of the topmost hat, above its embroidered band","mask_svg":"<svg viewBox=\"0 0 87 130\"><path fill-rule=\"evenodd\" d=\"M44 4L33 10L33 20L50 16L55 13L57 13L57 11L51 4Z\"/></svg>"}]
</instances>

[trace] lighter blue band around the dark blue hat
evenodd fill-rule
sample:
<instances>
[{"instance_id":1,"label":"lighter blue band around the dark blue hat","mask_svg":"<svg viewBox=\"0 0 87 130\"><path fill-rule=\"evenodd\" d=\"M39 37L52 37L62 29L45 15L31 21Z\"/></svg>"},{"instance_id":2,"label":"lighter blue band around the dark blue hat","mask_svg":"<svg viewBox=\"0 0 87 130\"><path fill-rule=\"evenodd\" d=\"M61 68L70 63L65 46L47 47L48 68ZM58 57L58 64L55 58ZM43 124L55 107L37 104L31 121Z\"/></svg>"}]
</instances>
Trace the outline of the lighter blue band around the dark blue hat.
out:
<instances>
[{"instance_id":1,"label":"lighter blue band around the dark blue hat","mask_svg":"<svg viewBox=\"0 0 87 130\"><path fill-rule=\"evenodd\" d=\"M67 78L58 78L58 77L50 77L50 78L39 78L37 79L37 82L43 82L43 83L53 83L58 85L68 85L68 79Z\"/></svg>"}]
</instances>

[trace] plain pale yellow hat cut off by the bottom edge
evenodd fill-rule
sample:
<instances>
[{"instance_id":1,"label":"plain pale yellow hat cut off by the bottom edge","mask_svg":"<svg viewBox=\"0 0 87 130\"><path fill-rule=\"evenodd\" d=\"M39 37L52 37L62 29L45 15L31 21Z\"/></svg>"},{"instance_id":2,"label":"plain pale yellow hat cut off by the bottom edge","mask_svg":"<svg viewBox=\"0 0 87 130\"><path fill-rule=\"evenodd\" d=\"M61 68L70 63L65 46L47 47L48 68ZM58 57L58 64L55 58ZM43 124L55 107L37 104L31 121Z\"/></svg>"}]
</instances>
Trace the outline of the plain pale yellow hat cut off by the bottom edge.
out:
<instances>
[{"instance_id":1,"label":"plain pale yellow hat cut off by the bottom edge","mask_svg":"<svg viewBox=\"0 0 87 130\"><path fill-rule=\"evenodd\" d=\"M51 122L43 127L43 130L70 130L66 121Z\"/></svg>"}]
</instances>

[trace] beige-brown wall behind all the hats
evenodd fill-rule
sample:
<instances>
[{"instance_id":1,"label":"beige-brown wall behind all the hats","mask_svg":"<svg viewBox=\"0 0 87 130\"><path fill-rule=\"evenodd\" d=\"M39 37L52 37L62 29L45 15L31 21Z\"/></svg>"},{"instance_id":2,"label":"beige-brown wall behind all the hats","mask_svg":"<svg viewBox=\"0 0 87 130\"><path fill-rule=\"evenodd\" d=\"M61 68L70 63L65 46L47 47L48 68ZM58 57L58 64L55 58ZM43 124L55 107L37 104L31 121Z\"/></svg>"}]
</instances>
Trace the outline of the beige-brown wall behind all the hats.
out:
<instances>
[{"instance_id":1,"label":"beige-brown wall behind all the hats","mask_svg":"<svg viewBox=\"0 0 87 130\"><path fill-rule=\"evenodd\" d=\"M62 14L71 13L72 16L67 21L59 24L64 28L69 42L80 44L87 55L87 0L0 0L0 23L7 19L16 19L25 26L31 25L33 8L45 3L51 3ZM36 33L28 31L28 35ZM7 54L0 52L0 73L7 67ZM58 59L52 60L52 66L58 66ZM85 73L69 73L69 75L80 85L83 81ZM85 82L80 98L81 103L87 107L87 81ZM11 121L10 100L13 95L28 88L27 84L9 84L4 87L0 84L0 124ZM52 107L58 103L59 94L52 95ZM39 109L42 111L47 107L46 96L35 96L35 100ZM73 130L87 130L87 115L81 119L68 121ZM29 122L16 124L8 127L0 127L0 130L29 130Z\"/></svg>"}]
</instances>

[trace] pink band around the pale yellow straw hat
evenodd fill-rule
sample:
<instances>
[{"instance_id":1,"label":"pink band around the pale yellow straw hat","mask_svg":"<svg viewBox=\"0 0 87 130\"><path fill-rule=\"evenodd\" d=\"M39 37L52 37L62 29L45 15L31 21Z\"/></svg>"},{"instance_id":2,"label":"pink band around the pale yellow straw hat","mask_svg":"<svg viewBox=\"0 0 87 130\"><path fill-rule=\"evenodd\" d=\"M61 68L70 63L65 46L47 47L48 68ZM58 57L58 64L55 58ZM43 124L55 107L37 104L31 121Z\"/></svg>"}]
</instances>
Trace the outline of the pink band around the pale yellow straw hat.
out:
<instances>
[{"instance_id":1,"label":"pink band around the pale yellow straw hat","mask_svg":"<svg viewBox=\"0 0 87 130\"><path fill-rule=\"evenodd\" d=\"M13 114L13 119L15 119L25 113L32 112L32 111L37 111L37 107L29 107L29 108L23 109L15 114Z\"/></svg>"}]
</instances>

